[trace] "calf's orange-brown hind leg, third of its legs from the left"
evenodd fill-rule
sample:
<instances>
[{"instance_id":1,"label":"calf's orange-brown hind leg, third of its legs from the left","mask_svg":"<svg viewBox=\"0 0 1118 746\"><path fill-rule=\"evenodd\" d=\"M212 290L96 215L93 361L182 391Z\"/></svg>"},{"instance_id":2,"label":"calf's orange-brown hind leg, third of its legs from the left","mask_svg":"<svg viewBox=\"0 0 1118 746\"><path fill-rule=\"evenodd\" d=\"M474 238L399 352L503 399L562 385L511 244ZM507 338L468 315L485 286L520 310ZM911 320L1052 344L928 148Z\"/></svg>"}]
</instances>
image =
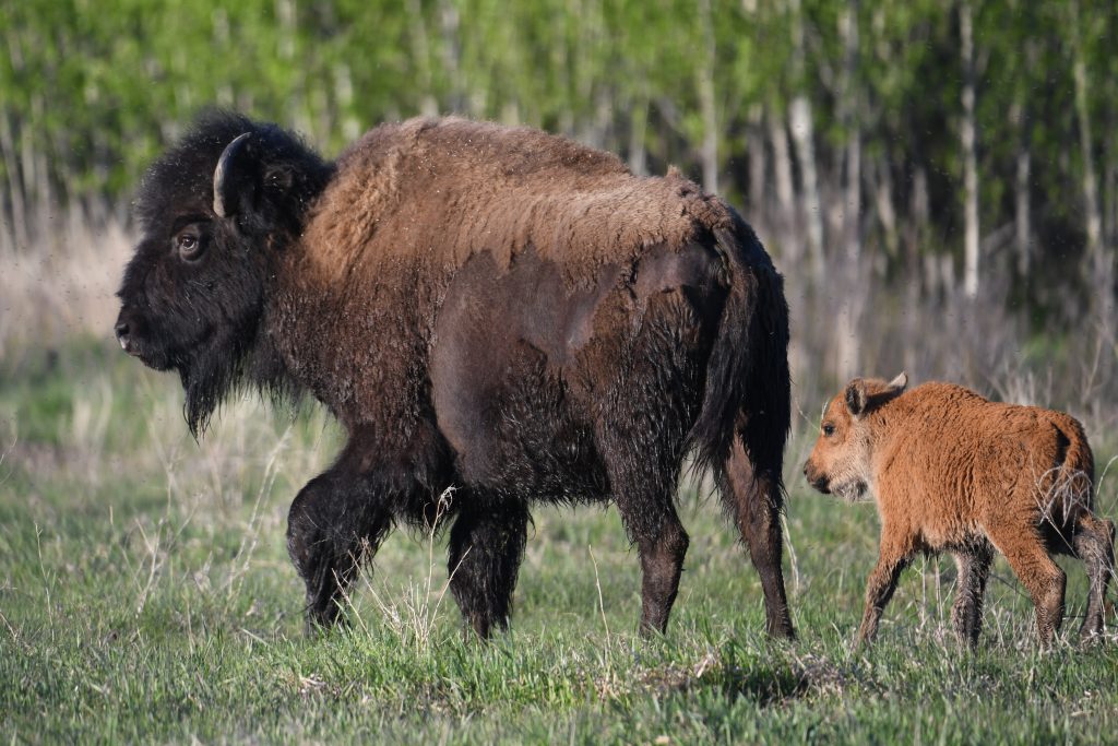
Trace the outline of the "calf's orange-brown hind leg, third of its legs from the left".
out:
<instances>
[{"instance_id":1,"label":"calf's orange-brown hind leg, third of its legs from the left","mask_svg":"<svg viewBox=\"0 0 1118 746\"><path fill-rule=\"evenodd\" d=\"M1052 561L1035 530L1006 526L987 532L1029 591L1036 607L1040 643L1048 648L1063 623L1063 591L1068 576Z\"/></svg>"}]
</instances>

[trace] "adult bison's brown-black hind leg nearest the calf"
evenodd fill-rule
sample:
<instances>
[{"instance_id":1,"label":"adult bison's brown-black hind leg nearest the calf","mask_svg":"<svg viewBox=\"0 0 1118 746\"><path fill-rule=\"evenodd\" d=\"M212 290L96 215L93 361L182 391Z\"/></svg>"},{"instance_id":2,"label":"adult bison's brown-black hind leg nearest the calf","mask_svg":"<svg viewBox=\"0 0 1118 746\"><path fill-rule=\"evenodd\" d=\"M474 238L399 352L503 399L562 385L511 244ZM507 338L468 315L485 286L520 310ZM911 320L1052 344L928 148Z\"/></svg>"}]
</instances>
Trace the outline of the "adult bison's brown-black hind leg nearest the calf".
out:
<instances>
[{"instance_id":1,"label":"adult bison's brown-black hind leg nearest the calf","mask_svg":"<svg viewBox=\"0 0 1118 746\"><path fill-rule=\"evenodd\" d=\"M730 457L718 474L727 510L749 548L765 593L765 631L775 636L795 638L780 566L783 495L778 476L758 470L741 444L733 438Z\"/></svg>"}]
</instances>

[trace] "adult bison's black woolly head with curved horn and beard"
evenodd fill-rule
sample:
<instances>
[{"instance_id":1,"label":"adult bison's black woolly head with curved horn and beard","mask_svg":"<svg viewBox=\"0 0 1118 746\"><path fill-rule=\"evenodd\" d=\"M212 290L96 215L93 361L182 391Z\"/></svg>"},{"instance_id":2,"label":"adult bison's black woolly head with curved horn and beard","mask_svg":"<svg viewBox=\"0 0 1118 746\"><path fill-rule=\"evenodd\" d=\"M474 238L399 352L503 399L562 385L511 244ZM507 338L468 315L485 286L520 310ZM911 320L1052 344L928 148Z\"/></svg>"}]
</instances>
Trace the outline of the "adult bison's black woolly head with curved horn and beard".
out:
<instances>
[{"instance_id":1,"label":"adult bison's black woolly head with curved horn and beard","mask_svg":"<svg viewBox=\"0 0 1118 746\"><path fill-rule=\"evenodd\" d=\"M254 358L273 267L330 173L291 133L210 113L144 177L116 338L145 365L178 370L195 434L263 369Z\"/></svg>"}]
</instances>

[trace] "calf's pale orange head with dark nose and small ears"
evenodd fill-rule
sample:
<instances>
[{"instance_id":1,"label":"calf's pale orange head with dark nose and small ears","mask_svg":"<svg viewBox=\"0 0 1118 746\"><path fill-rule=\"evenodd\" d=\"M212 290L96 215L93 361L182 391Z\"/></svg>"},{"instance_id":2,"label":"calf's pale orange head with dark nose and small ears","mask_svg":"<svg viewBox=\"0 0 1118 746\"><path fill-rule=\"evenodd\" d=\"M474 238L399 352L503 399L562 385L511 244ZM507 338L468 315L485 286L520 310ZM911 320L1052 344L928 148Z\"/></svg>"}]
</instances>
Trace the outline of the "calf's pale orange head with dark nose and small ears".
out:
<instances>
[{"instance_id":1,"label":"calf's pale orange head with dark nose and small ears","mask_svg":"<svg viewBox=\"0 0 1118 746\"><path fill-rule=\"evenodd\" d=\"M827 403L819 436L804 464L807 481L824 494L835 493L851 502L865 497L870 488L873 434L868 415L904 391L908 376L888 384L855 378Z\"/></svg>"}]
</instances>

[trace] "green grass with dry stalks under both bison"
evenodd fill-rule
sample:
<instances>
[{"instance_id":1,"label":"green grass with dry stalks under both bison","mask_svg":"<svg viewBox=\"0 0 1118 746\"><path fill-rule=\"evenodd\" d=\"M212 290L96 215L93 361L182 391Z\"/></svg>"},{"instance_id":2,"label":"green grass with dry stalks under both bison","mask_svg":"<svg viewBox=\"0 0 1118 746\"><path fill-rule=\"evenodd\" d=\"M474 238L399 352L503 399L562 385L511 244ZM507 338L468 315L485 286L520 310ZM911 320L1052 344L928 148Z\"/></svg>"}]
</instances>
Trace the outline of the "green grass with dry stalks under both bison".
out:
<instances>
[{"instance_id":1,"label":"green grass with dry stalks under both bison","mask_svg":"<svg viewBox=\"0 0 1118 746\"><path fill-rule=\"evenodd\" d=\"M808 408L814 409L814 406ZM811 493L788 451L786 565L799 640L761 633L757 576L717 502L664 640L635 635L638 563L616 511L540 509L513 631L461 633L445 546L394 535L348 630L307 638L284 549L295 491L333 455L321 412L247 402L196 443L172 376L100 344L0 363L4 742L1053 743L1115 740L1118 644L1035 650L1002 560L983 648L949 633L954 566L918 561L852 654L877 548L870 506ZM1108 450L1109 448L1109 450ZM1114 443L1096 443L1106 464ZM1115 514L1114 482L1103 488ZM1108 622L1114 625L1111 617Z\"/></svg>"}]
</instances>

